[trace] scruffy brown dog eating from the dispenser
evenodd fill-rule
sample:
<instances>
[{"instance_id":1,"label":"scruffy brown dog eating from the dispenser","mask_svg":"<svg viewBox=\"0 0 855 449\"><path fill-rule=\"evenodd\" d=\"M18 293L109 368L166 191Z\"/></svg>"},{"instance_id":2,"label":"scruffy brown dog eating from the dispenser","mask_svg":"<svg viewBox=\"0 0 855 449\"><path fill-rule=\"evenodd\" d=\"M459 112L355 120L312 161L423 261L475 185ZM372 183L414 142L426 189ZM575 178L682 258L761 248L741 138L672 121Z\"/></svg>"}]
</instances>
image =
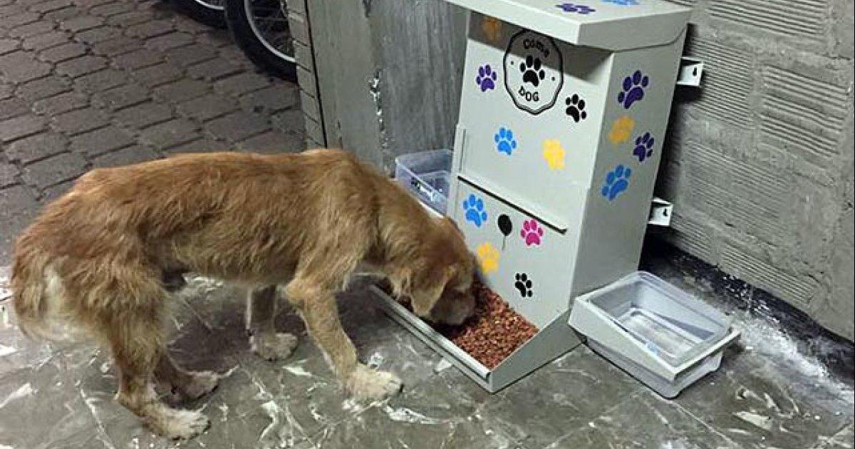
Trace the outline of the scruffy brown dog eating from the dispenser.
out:
<instances>
[{"instance_id":1,"label":"scruffy brown dog eating from the dispenser","mask_svg":"<svg viewBox=\"0 0 855 449\"><path fill-rule=\"evenodd\" d=\"M44 331L56 316L85 328L115 357L121 404L156 433L186 438L208 419L169 408L152 382L196 398L217 376L184 371L167 355L162 321L176 274L251 286L253 348L265 357L296 345L273 328L277 295L268 286L285 286L345 388L380 399L401 382L359 363L333 296L361 262L385 273L419 316L460 323L474 310L474 261L454 223L432 219L392 180L328 150L93 170L17 240L12 290L25 332Z\"/></svg>"}]
</instances>

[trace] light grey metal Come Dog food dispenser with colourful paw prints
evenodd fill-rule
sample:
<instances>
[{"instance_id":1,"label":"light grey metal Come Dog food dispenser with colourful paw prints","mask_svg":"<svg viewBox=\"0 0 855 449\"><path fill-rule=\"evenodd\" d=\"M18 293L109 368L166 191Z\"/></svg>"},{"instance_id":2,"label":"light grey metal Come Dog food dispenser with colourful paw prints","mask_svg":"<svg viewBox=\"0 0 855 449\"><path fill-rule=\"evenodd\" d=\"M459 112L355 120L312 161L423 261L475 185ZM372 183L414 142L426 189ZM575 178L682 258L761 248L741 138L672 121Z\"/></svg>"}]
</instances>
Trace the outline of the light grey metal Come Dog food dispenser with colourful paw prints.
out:
<instances>
[{"instance_id":1,"label":"light grey metal Come Dog food dispenser with colourful paw prints","mask_svg":"<svg viewBox=\"0 0 855 449\"><path fill-rule=\"evenodd\" d=\"M638 268L690 10L662 0L448 1L470 14L445 215L486 286L540 332L486 369L375 291L393 318L493 392L578 346L573 298Z\"/></svg>"}]
</instances>

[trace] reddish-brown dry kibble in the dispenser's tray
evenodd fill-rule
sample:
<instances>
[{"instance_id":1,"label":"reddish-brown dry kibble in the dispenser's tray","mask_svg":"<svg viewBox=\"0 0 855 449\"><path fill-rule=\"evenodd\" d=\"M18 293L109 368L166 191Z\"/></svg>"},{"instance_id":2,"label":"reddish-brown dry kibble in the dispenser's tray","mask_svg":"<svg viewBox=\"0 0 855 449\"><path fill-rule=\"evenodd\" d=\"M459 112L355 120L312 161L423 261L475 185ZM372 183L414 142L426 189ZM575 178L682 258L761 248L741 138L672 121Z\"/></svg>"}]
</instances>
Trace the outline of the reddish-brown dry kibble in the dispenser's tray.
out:
<instances>
[{"instance_id":1,"label":"reddish-brown dry kibble in the dispenser's tray","mask_svg":"<svg viewBox=\"0 0 855 449\"><path fill-rule=\"evenodd\" d=\"M538 329L481 282L475 281L472 290L478 303L475 316L462 326L434 325L434 328L475 360L493 369L534 337Z\"/></svg>"}]
</instances>

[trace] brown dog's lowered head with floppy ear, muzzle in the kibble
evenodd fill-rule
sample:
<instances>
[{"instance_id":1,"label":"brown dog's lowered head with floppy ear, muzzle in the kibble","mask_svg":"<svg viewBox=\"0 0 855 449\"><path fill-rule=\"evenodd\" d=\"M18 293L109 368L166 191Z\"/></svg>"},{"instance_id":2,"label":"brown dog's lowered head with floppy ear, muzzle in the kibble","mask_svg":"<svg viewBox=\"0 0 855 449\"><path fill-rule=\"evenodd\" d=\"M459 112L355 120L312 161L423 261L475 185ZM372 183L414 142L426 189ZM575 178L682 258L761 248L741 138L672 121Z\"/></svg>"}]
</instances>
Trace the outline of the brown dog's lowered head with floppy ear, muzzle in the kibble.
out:
<instances>
[{"instance_id":1,"label":"brown dog's lowered head with floppy ear, muzzle in the kibble","mask_svg":"<svg viewBox=\"0 0 855 449\"><path fill-rule=\"evenodd\" d=\"M410 298L417 316L431 322L461 324L475 313L475 257L451 219L435 219L428 227L430 232L418 242L416 257L397 267L398 275L390 277L392 284L398 284L398 294Z\"/></svg>"}]
</instances>

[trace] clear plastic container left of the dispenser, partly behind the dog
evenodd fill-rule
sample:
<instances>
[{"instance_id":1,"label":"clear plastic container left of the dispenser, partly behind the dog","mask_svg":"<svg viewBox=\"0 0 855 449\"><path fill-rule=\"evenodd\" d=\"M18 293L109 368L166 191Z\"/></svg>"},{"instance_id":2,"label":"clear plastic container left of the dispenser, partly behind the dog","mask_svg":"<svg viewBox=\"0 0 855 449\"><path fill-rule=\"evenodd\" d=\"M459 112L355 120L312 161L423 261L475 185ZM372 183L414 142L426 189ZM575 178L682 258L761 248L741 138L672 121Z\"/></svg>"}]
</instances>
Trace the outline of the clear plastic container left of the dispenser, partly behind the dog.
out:
<instances>
[{"instance_id":1,"label":"clear plastic container left of the dispenser, partly behind the dog","mask_svg":"<svg viewBox=\"0 0 855 449\"><path fill-rule=\"evenodd\" d=\"M445 215L451 176L451 150L430 150L395 158L395 179L431 209Z\"/></svg>"}]
</instances>

